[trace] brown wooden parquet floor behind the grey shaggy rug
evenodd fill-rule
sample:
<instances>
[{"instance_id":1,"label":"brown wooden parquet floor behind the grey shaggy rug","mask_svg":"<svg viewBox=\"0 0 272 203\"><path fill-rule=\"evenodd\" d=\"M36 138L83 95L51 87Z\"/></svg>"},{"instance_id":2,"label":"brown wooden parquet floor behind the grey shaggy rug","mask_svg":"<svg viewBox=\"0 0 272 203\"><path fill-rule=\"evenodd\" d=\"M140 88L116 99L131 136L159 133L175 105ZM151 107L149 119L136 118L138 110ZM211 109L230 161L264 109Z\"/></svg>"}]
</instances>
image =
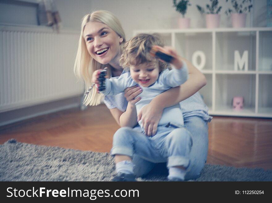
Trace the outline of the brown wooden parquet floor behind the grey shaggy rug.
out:
<instances>
[{"instance_id":1,"label":"brown wooden parquet floor behind the grey shaggy rug","mask_svg":"<svg viewBox=\"0 0 272 203\"><path fill-rule=\"evenodd\" d=\"M109 152L119 126L101 104L39 116L0 127L0 144L19 142ZM207 163L272 169L272 119L214 116Z\"/></svg>"}]
</instances>

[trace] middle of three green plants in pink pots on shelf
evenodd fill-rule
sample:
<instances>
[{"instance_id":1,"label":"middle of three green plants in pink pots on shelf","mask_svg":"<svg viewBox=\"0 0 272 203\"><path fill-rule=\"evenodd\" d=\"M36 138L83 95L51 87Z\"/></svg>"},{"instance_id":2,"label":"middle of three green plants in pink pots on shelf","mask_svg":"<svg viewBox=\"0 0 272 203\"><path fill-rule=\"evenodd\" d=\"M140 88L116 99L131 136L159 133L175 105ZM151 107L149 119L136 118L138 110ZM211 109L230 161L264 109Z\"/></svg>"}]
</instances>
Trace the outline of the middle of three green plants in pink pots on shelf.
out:
<instances>
[{"instance_id":1,"label":"middle of three green plants in pink pots on shelf","mask_svg":"<svg viewBox=\"0 0 272 203\"><path fill-rule=\"evenodd\" d=\"M207 28L215 28L219 27L220 21L220 11L222 6L218 5L218 0L210 0L210 5L206 4L206 10L199 5L196 5L198 11L201 14L206 14L206 27Z\"/></svg>"}]
</instances>

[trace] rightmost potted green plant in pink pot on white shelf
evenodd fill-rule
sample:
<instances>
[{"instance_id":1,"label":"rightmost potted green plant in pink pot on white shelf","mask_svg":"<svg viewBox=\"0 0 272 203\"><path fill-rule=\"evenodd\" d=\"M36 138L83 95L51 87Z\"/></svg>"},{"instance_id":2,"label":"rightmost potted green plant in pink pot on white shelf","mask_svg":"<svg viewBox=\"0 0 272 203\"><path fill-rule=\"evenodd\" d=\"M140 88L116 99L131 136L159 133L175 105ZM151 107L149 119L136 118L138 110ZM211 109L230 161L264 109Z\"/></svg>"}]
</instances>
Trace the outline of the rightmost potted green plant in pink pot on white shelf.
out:
<instances>
[{"instance_id":1,"label":"rightmost potted green plant in pink pot on white shelf","mask_svg":"<svg viewBox=\"0 0 272 203\"><path fill-rule=\"evenodd\" d=\"M228 0L226 0L228 2ZM232 9L228 8L225 11L226 15L231 15L232 27L245 27L246 12L252 9L252 0L231 0Z\"/></svg>"}]
</instances>

